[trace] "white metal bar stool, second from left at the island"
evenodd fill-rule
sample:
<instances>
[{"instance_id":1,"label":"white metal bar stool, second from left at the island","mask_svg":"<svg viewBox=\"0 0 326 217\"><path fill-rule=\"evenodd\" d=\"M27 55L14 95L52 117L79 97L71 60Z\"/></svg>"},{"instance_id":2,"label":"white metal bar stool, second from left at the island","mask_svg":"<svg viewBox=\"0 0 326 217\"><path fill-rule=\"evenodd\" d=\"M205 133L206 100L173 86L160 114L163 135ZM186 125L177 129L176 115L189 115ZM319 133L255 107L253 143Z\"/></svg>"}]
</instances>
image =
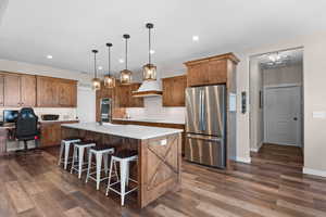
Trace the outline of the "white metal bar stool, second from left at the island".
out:
<instances>
[{"instance_id":1,"label":"white metal bar stool, second from left at the island","mask_svg":"<svg viewBox=\"0 0 326 217\"><path fill-rule=\"evenodd\" d=\"M95 141L82 141L82 142L74 143L74 154L73 154L71 174L73 174L73 171L76 170L78 173L78 179L82 178L82 173L88 169L88 168L83 169L83 166L87 165L87 163L84 164L85 150L87 151L87 155L89 156L89 149L95 145L96 145ZM78 159L77 165L75 164L76 159Z\"/></svg>"}]
</instances>

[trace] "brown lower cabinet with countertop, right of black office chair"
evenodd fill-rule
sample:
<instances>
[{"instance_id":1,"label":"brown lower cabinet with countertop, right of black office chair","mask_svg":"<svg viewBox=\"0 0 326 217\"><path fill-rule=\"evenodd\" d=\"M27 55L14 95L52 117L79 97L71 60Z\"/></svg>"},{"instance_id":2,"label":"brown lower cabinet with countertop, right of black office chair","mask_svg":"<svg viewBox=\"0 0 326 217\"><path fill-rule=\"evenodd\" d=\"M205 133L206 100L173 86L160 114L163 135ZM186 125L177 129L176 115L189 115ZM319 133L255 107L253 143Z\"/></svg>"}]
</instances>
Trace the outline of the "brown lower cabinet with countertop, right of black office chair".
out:
<instances>
[{"instance_id":1,"label":"brown lower cabinet with countertop, right of black office chair","mask_svg":"<svg viewBox=\"0 0 326 217\"><path fill-rule=\"evenodd\" d=\"M78 122L47 122L40 124L40 146L54 146L61 143L61 125Z\"/></svg>"}]
</instances>

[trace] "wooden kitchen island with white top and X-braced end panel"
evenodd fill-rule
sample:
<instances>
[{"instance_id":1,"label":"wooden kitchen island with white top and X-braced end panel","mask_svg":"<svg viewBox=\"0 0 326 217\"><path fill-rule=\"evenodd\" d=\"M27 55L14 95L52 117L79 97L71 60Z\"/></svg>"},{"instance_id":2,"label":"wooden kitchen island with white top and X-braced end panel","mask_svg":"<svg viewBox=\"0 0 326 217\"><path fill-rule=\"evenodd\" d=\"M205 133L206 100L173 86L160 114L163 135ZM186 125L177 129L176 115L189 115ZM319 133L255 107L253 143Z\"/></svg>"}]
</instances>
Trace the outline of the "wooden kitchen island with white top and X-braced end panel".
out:
<instances>
[{"instance_id":1,"label":"wooden kitchen island with white top and X-braced end panel","mask_svg":"<svg viewBox=\"0 0 326 217\"><path fill-rule=\"evenodd\" d=\"M62 138L80 137L110 144L116 151L138 151L138 164L130 168L137 176L139 207L147 206L167 191L177 190L181 173L183 129L79 123L62 125Z\"/></svg>"}]
</instances>

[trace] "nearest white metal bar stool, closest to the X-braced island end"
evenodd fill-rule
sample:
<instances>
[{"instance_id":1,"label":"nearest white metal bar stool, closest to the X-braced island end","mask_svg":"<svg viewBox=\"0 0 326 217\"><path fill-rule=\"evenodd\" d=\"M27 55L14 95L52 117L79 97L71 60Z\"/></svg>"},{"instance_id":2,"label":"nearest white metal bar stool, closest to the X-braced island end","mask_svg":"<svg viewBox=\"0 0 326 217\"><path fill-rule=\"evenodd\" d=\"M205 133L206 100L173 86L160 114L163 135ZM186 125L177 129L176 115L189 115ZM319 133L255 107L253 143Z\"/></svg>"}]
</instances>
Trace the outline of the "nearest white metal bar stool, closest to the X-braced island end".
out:
<instances>
[{"instance_id":1,"label":"nearest white metal bar stool, closest to the X-braced island end","mask_svg":"<svg viewBox=\"0 0 326 217\"><path fill-rule=\"evenodd\" d=\"M125 204L125 195L131 193L133 191L136 191L138 187L135 187L134 189L129 190L126 192L126 186L128 187L129 180L138 183L136 180L129 178L129 163L138 161L138 153L137 151L130 151L130 150L123 150L121 152L117 152L112 155L111 157L111 163L110 163L110 174L109 174L109 183L106 188L106 196L109 195L109 191L112 190L115 193L121 195L121 205L123 206ZM114 183L111 183L111 171L112 171L112 166L116 162L120 163L120 180L117 180ZM113 189L112 186L120 182L121 186L121 191L118 192L117 190Z\"/></svg>"}]
</instances>

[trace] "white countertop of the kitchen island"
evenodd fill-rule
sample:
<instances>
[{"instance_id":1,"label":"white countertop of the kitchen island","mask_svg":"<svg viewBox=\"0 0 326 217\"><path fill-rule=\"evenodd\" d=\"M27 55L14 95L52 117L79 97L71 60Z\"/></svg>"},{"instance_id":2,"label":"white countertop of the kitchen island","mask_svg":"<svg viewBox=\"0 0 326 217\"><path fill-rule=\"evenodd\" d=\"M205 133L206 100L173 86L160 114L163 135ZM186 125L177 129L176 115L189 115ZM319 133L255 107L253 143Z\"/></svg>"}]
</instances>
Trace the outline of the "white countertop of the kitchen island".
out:
<instances>
[{"instance_id":1,"label":"white countertop of the kitchen island","mask_svg":"<svg viewBox=\"0 0 326 217\"><path fill-rule=\"evenodd\" d=\"M184 131L183 129L147 127L139 125L114 125L109 123L104 123L103 125L99 125L98 123L78 123L63 124L61 126L139 140L164 137Z\"/></svg>"}]
</instances>

